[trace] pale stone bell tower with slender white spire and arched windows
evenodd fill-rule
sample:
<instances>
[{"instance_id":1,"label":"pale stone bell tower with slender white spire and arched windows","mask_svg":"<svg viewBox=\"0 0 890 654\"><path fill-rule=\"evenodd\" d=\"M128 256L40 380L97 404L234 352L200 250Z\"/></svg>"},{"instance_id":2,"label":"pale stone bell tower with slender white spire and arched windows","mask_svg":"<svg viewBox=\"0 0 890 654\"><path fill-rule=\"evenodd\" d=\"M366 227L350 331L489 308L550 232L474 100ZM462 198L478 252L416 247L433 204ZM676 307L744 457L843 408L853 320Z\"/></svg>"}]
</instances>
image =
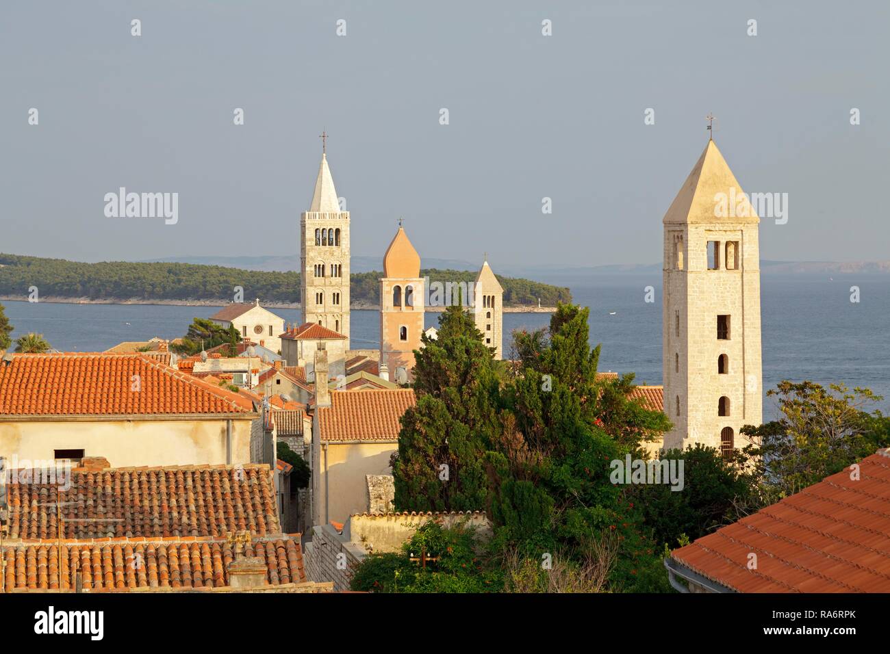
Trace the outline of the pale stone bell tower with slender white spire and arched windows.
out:
<instances>
[{"instance_id":1,"label":"pale stone bell tower with slender white spire and arched windows","mask_svg":"<svg viewBox=\"0 0 890 654\"><path fill-rule=\"evenodd\" d=\"M300 216L300 303L303 322L346 336L349 349L349 212L340 211L327 152L309 211Z\"/></svg>"}]
</instances>

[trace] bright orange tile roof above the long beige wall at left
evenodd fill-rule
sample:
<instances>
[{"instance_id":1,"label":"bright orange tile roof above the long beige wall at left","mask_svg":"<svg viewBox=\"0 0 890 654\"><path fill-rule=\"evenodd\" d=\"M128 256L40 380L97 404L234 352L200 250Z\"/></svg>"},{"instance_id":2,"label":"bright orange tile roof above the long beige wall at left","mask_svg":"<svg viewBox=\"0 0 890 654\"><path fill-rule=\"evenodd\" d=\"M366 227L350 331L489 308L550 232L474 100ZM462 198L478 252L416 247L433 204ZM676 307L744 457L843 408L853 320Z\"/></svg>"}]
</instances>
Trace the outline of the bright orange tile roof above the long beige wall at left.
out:
<instances>
[{"instance_id":1,"label":"bright orange tile roof above the long beige wall at left","mask_svg":"<svg viewBox=\"0 0 890 654\"><path fill-rule=\"evenodd\" d=\"M141 354L16 354L11 363L0 362L0 416L251 412L253 404L238 393Z\"/></svg>"}]
</instances>

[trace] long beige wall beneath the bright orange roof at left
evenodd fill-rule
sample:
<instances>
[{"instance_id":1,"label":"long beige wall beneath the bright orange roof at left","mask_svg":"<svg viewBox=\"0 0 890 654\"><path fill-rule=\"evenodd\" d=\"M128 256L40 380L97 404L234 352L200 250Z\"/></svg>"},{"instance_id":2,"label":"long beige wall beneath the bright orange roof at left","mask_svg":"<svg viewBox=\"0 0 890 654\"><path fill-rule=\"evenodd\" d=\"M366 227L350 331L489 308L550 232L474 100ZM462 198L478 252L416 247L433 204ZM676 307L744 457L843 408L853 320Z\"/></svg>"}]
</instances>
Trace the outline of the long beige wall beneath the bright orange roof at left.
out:
<instances>
[{"instance_id":1,"label":"long beige wall beneath the bright orange roof at left","mask_svg":"<svg viewBox=\"0 0 890 654\"><path fill-rule=\"evenodd\" d=\"M85 456L104 456L114 468L249 464L252 422L250 418L231 420L231 456L227 456L227 420L224 418L3 420L0 421L0 456L52 461L55 449L83 449Z\"/></svg>"}]
</instances>

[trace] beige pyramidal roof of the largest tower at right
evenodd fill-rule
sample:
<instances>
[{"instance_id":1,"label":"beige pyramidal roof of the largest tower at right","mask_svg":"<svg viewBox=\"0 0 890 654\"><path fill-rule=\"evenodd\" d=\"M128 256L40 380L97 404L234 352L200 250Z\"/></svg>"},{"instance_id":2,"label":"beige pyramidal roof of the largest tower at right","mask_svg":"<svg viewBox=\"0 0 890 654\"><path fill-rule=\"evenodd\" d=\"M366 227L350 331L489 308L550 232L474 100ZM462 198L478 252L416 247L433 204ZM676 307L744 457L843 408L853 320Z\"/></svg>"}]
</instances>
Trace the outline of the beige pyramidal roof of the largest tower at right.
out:
<instances>
[{"instance_id":1,"label":"beige pyramidal roof of the largest tower at right","mask_svg":"<svg viewBox=\"0 0 890 654\"><path fill-rule=\"evenodd\" d=\"M738 224L760 219L716 143L708 141L662 222Z\"/></svg>"}]
</instances>

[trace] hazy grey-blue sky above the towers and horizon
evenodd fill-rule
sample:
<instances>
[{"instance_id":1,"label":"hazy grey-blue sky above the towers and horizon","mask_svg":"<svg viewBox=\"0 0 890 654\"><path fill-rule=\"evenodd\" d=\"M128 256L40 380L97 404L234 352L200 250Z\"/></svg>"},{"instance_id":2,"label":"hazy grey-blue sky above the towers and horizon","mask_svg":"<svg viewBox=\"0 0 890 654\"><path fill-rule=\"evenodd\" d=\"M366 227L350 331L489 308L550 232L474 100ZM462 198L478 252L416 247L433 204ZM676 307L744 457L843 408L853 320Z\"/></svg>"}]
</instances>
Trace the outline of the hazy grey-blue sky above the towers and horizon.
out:
<instances>
[{"instance_id":1,"label":"hazy grey-blue sky above the towers and horizon","mask_svg":"<svg viewBox=\"0 0 890 654\"><path fill-rule=\"evenodd\" d=\"M888 7L4 2L0 252L296 254L325 130L353 255L403 217L422 257L658 262L710 112L742 188L788 194L762 258L890 259ZM177 222L106 216L119 187Z\"/></svg>"}]
</instances>

